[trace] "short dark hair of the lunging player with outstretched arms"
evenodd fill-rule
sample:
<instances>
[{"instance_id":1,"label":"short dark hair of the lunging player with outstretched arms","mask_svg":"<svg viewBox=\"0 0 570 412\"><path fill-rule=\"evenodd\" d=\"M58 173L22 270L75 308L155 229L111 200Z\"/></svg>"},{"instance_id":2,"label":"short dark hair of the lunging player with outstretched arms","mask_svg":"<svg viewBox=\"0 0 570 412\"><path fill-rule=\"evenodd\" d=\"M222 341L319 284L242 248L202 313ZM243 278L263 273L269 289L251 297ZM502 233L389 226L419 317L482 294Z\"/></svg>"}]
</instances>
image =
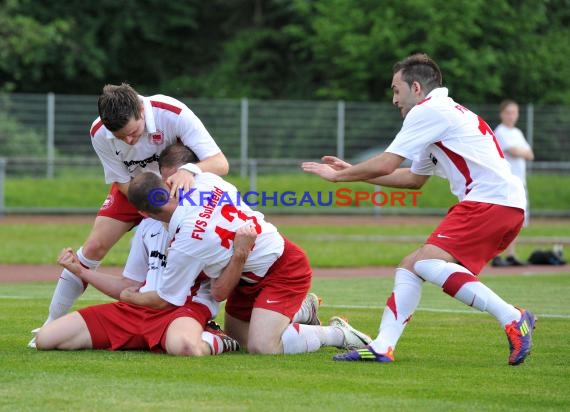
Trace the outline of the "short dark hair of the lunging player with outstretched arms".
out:
<instances>
[{"instance_id":1,"label":"short dark hair of the lunging player with outstretched arms","mask_svg":"<svg viewBox=\"0 0 570 412\"><path fill-rule=\"evenodd\" d=\"M435 61L425 53L415 53L400 60L392 68L392 73L402 71L402 79L411 87L413 82L422 85L426 94L443 84L441 70Z\"/></svg>"}]
</instances>

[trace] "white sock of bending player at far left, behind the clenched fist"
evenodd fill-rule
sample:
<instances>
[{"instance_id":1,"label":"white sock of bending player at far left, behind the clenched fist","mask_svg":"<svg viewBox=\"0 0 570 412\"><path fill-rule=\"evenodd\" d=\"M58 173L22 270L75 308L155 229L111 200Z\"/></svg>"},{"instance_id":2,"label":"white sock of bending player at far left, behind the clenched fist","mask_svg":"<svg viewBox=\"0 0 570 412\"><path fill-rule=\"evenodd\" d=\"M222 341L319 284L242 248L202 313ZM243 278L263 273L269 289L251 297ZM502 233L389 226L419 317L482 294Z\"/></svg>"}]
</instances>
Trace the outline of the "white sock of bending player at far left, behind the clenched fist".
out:
<instances>
[{"instance_id":1,"label":"white sock of bending player at far left, behind the clenched fist","mask_svg":"<svg viewBox=\"0 0 570 412\"><path fill-rule=\"evenodd\" d=\"M100 261L86 258L83 255L83 248L79 248L77 257L81 264L89 269L95 270L101 263ZM77 298L83 294L86 287L87 285L84 284L80 278L69 270L63 269L51 298L49 316L44 325L68 313L71 306L73 306Z\"/></svg>"}]
</instances>

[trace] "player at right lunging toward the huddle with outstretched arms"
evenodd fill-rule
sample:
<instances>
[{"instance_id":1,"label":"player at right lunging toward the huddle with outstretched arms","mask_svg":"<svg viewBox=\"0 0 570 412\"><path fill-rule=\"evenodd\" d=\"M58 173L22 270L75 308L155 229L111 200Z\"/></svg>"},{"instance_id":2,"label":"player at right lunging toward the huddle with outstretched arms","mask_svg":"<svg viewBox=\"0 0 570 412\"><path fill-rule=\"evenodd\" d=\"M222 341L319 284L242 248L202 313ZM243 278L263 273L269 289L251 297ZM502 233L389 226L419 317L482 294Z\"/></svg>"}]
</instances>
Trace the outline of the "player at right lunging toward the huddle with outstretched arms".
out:
<instances>
[{"instance_id":1,"label":"player at right lunging toward the huddle with outstretched arms","mask_svg":"<svg viewBox=\"0 0 570 412\"><path fill-rule=\"evenodd\" d=\"M427 281L494 316L507 335L508 363L518 365L530 353L535 316L505 302L477 275L520 231L526 206L522 182L511 173L487 123L448 96L439 67L427 55L394 65L392 91L404 123L384 153L357 165L325 156L322 163L303 163L303 170L331 182L416 189L438 175L449 180L459 202L426 243L399 264L376 339L335 360L392 362ZM412 160L411 168L398 168L405 158Z\"/></svg>"}]
</instances>

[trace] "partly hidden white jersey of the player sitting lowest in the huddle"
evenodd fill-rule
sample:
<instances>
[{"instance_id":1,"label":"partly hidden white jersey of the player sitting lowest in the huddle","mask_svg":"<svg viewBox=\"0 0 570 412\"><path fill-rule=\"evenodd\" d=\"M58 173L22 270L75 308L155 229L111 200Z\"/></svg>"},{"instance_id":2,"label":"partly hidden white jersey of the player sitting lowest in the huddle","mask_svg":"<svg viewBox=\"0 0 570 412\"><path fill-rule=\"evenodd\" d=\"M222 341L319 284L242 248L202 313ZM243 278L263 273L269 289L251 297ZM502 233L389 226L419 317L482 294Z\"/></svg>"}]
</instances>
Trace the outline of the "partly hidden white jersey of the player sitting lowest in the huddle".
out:
<instances>
[{"instance_id":1,"label":"partly hidden white jersey of the player sitting lowest in the huddle","mask_svg":"<svg viewBox=\"0 0 570 412\"><path fill-rule=\"evenodd\" d=\"M143 219L133 236L131 250L123 276L137 282L144 282L140 292L156 291L166 268L166 251L170 235L162 222ZM198 276L185 290L180 291L184 302L191 299L206 305L212 317L218 313L218 302L211 295L211 281L205 275ZM182 304L184 304L182 302Z\"/></svg>"}]
</instances>

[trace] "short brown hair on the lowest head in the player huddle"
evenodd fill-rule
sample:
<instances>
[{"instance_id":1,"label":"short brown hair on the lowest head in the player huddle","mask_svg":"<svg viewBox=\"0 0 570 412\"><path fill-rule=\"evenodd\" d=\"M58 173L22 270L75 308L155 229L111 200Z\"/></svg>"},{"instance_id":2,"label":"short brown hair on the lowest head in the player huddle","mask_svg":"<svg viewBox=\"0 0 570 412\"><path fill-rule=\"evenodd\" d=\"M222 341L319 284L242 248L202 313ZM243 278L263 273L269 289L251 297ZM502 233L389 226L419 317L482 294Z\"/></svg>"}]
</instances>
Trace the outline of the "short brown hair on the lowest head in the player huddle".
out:
<instances>
[{"instance_id":1,"label":"short brown hair on the lowest head in the player huddle","mask_svg":"<svg viewBox=\"0 0 570 412\"><path fill-rule=\"evenodd\" d=\"M157 189L164 189L157 190ZM159 213L160 206L168 201L169 190L156 173L144 172L135 176L129 183L127 197L138 210L147 213ZM164 196L164 198L160 198Z\"/></svg>"}]
</instances>

